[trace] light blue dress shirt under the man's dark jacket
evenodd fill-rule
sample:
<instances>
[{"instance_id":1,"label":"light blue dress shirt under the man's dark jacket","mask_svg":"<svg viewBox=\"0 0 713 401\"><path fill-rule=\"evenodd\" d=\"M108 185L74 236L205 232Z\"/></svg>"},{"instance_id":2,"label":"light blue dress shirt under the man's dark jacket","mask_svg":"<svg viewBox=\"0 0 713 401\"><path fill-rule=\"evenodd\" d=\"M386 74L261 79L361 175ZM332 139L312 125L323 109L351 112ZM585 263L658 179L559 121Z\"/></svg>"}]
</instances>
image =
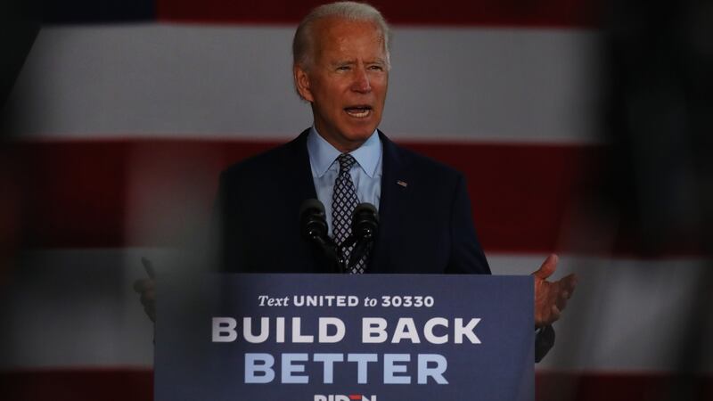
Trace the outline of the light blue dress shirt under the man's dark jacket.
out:
<instances>
[{"instance_id":1,"label":"light blue dress shirt under the man's dark jacket","mask_svg":"<svg viewBox=\"0 0 713 401\"><path fill-rule=\"evenodd\" d=\"M307 152L309 165L312 168L312 179L315 180L317 199L324 204L324 213L327 215L329 235L332 235L332 192L334 181L340 172L340 163L337 158L341 152L331 143L328 143L312 127L307 135ZM351 179L356 189L356 198L359 202L369 202L379 209L381 199L381 140L374 131L356 151L349 152L356 160L349 170Z\"/></svg>"}]
</instances>

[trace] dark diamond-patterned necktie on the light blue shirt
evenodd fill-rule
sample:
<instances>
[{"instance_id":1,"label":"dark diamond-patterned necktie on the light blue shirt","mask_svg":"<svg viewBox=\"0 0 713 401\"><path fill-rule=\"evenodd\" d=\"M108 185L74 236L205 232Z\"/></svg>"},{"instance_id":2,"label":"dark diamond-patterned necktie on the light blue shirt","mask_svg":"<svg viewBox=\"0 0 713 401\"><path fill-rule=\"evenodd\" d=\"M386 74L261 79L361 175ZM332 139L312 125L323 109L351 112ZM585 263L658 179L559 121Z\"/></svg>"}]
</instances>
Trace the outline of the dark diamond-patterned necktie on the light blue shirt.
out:
<instances>
[{"instance_id":1,"label":"dark diamond-patterned necktie on the light blue shirt","mask_svg":"<svg viewBox=\"0 0 713 401\"><path fill-rule=\"evenodd\" d=\"M349 174L349 170L354 166L356 160L348 153L340 154L337 160L340 162L340 174L334 182L334 192L332 192L332 233L334 241L341 246L342 242L346 241L351 235L351 215L356 209L358 200L356 199L354 183ZM348 259L353 249L353 245L345 249L344 258ZM352 267L350 273L362 274L364 273L364 267L365 258L361 258Z\"/></svg>"}]
</instances>

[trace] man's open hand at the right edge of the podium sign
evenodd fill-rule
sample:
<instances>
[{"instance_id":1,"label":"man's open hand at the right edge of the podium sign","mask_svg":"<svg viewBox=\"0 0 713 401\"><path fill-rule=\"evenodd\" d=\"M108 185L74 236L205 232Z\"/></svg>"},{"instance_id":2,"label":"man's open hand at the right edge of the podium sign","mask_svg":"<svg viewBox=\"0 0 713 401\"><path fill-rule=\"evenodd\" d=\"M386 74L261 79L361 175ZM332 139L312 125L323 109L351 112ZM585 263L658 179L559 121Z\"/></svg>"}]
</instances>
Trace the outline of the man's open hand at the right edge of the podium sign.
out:
<instances>
[{"instance_id":1,"label":"man's open hand at the right edge of the podium sign","mask_svg":"<svg viewBox=\"0 0 713 401\"><path fill-rule=\"evenodd\" d=\"M577 286L577 276L570 274L559 281L548 282L546 279L557 268L557 255L545 259L535 273L535 326L542 327L556 322L567 306Z\"/></svg>"}]
</instances>

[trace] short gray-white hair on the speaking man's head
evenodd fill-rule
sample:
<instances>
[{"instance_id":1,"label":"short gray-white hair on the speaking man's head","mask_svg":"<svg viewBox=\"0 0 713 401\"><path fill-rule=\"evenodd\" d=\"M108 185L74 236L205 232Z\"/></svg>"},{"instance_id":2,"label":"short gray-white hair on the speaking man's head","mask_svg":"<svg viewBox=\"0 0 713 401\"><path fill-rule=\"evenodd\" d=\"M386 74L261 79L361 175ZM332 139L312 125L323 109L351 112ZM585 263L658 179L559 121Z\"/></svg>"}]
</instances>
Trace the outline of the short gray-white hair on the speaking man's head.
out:
<instances>
[{"instance_id":1,"label":"short gray-white hair on the speaking man's head","mask_svg":"<svg viewBox=\"0 0 713 401\"><path fill-rule=\"evenodd\" d=\"M389 30L389 24L386 23L381 12L373 8L372 5L356 2L337 2L320 5L299 22L295 37L292 40L292 57L295 65L299 65L306 70L311 66L315 57L315 37L312 29L317 20L329 17L338 17L345 20L364 20L376 24L384 37L386 64L387 68L390 67L391 31Z\"/></svg>"}]
</instances>

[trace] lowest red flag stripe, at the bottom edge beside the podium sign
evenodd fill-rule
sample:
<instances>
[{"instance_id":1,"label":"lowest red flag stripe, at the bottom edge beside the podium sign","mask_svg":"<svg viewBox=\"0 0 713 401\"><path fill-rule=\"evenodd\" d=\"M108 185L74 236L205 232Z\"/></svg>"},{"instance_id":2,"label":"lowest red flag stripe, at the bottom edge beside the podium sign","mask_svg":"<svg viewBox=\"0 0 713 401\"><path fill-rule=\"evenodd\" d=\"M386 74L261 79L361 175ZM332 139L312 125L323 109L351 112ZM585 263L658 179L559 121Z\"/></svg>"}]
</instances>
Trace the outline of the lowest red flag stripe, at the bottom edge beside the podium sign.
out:
<instances>
[{"instance_id":1,"label":"lowest red flag stripe, at the bottom edge beside the podium sign","mask_svg":"<svg viewBox=\"0 0 713 401\"><path fill-rule=\"evenodd\" d=\"M3 399L13 401L150 401L153 372L141 369L0 372ZM713 376L672 373L537 372L537 401L713 399Z\"/></svg>"}]
</instances>

